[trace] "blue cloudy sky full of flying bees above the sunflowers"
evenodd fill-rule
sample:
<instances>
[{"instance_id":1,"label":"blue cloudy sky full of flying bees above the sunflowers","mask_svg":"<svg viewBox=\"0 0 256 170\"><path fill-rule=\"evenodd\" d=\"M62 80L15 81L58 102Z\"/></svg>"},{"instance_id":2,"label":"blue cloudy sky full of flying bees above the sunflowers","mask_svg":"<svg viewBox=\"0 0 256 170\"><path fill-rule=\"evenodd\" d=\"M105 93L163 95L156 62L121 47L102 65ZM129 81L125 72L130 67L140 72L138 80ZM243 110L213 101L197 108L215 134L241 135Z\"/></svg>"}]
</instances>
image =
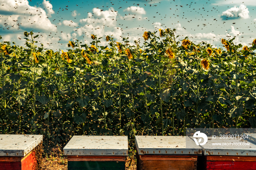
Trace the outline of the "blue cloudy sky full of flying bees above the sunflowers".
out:
<instances>
[{"instance_id":1,"label":"blue cloudy sky full of flying bees above the sunflowers","mask_svg":"<svg viewBox=\"0 0 256 170\"><path fill-rule=\"evenodd\" d=\"M182 40L222 47L221 39L250 46L256 38L255 0L0 0L1 41L25 46L24 31L39 35L37 46L69 49L69 40L92 42L91 34L143 45L144 31L176 29Z\"/></svg>"}]
</instances>

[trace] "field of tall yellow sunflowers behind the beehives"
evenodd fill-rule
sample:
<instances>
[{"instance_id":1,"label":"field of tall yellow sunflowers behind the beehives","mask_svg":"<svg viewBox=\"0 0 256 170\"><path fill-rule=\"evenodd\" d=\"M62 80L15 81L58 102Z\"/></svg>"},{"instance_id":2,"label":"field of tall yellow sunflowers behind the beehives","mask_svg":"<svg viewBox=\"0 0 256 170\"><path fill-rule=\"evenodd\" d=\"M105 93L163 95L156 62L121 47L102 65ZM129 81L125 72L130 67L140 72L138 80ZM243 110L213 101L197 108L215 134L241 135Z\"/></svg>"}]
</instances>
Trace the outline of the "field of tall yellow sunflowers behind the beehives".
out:
<instances>
[{"instance_id":1,"label":"field of tall yellow sunflowers behind the beehives","mask_svg":"<svg viewBox=\"0 0 256 170\"><path fill-rule=\"evenodd\" d=\"M0 43L0 134L42 134L46 147L73 135L185 135L186 128L256 127L256 39L223 49L177 40L175 29L144 42L91 35L66 50ZM0 37L1 39L2 37Z\"/></svg>"}]
</instances>

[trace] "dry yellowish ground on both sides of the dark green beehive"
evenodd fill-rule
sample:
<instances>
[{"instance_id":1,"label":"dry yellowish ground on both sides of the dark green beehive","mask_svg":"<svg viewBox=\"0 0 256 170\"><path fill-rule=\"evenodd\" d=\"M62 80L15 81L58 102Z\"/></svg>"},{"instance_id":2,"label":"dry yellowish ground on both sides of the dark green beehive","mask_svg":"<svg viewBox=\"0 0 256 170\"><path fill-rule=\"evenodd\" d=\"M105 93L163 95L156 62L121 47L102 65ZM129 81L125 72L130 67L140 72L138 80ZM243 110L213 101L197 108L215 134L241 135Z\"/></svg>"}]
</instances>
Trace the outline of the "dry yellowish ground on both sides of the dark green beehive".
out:
<instances>
[{"instance_id":1,"label":"dry yellowish ground on both sides of the dark green beehive","mask_svg":"<svg viewBox=\"0 0 256 170\"><path fill-rule=\"evenodd\" d=\"M125 162L125 170L136 170L136 161L132 160L132 163L129 167L131 157L127 157ZM42 159L42 170L67 170L68 169L68 160L67 157L62 155L51 154L50 156L45 156Z\"/></svg>"}]
</instances>

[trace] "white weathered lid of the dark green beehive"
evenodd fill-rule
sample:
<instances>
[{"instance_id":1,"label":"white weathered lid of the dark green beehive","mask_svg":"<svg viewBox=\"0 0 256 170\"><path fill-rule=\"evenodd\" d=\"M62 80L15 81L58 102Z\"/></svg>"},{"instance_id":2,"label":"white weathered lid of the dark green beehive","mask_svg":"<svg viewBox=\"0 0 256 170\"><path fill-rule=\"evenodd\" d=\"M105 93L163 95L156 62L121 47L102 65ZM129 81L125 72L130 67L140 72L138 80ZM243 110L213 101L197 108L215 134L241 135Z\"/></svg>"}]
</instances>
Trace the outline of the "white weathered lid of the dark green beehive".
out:
<instances>
[{"instance_id":1,"label":"white weathered lid of the dark green beehive","mask_svg":"<svg viewBox=\"0 0 256 170\"><path fill-rule=\"evenodd\" d=\"M127 136L73 136L64 155L128 155Z\"/></svg>"}]
</instances>

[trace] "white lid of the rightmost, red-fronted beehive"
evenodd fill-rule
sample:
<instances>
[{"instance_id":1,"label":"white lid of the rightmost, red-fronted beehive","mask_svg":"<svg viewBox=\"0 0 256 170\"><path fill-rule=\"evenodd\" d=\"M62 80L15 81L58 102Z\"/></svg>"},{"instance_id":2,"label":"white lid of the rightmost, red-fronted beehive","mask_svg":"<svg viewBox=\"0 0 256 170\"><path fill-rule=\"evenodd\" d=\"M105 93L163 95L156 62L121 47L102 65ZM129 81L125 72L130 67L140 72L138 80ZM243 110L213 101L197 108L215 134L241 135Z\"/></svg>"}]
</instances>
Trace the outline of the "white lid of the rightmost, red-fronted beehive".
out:
<instances>
[{"instance_id":1,"label":"white lid of the rightmost, red-fronted beehive","mask_svg":"<svg viewBox=\"0 0 256 170\"><path fill-rule=\"evenodd\" d=\"M229 145L213 145L213 143L229 143ZM236 145L235 143L238 143ZM242 145L246 143L249 145ZM241 145L240 145L241 144ZM208 137L207 143L201 146L204 155L246 155L256 156L256 145L243 139L211 139Z\"/></svg>"}]
</instances>

